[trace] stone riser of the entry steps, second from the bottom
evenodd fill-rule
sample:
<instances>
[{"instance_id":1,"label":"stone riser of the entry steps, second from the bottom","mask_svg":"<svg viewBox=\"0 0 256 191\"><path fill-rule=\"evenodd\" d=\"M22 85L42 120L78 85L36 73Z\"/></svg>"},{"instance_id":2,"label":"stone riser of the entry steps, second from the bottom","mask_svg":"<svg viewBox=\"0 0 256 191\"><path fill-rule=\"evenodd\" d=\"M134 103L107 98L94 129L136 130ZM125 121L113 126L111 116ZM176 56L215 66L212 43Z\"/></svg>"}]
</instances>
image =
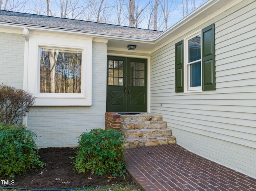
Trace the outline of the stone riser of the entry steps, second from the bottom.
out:
<instances>
[{"instance_id":1,"label":"stone riser of the entry steps, second from the bottom","mask_svg":"<svg viewBox=\"0 0 256 191\"><path fill-rule=\"evenodd\" d=\"M152 129L152 130L122 130L126 134L127 138L146 138L146 137L164 137L172 136L172 130L164 129Z\"/></svg>"}]
</instances>

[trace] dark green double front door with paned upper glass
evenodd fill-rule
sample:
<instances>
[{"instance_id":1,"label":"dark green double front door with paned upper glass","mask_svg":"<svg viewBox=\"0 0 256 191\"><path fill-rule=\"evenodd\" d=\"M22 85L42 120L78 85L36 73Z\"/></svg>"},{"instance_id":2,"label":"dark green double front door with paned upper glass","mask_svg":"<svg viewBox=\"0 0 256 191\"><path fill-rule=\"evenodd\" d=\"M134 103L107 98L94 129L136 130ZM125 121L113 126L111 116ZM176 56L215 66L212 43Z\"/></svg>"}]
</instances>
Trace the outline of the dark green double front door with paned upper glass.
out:
<instances>
[{"instance_id":1,"label":"dark green double front door with paned upper glass","mask_svg":"<svg viewBox=\"0 0 256 191\"><path fill-rule=\"evenodd\" d=\"M107 112L147 111L147 60L108 56Z\"/></svg>"}]
</instances>

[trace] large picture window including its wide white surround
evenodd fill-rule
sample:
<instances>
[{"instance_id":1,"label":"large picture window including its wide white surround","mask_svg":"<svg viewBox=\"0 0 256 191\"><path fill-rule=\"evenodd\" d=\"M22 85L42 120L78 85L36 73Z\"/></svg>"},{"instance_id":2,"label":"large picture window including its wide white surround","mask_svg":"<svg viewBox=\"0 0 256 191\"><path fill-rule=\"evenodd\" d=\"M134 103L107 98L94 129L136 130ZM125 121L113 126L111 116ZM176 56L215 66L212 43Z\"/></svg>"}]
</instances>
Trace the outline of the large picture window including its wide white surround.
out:
<instances>
[{"instance_id":1,"label":"large picture window including its wide white surround","mask_svg":"<svg viewBox=\"0 0 256 191\"><path fill-rule=\"evenodd\" d=\"M34 105L92 105L91 37L30 34L27 48L24 76Z\"/></svg>"}]
</instances>

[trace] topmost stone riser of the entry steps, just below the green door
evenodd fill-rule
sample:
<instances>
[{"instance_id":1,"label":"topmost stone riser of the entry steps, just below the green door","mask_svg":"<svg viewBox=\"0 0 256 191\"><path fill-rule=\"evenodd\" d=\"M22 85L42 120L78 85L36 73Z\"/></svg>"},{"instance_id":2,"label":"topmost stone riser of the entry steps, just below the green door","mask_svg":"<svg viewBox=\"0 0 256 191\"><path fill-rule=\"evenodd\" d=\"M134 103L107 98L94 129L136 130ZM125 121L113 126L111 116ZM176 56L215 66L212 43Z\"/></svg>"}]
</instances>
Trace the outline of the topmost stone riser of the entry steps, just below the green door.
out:
<instances>
[{"instance_id":1,"label":"topmost stone riser of the entry steps, just below the green door","mask_svg":"<svg viewBox=\"0 0 256 191\"><path fill-rule=\"evenodd\" d=\"M121 116L121 122L134 122L134 121L162 121L163 118L160 115L140 115L140 116Z\"/></svg>"}]
</instances>

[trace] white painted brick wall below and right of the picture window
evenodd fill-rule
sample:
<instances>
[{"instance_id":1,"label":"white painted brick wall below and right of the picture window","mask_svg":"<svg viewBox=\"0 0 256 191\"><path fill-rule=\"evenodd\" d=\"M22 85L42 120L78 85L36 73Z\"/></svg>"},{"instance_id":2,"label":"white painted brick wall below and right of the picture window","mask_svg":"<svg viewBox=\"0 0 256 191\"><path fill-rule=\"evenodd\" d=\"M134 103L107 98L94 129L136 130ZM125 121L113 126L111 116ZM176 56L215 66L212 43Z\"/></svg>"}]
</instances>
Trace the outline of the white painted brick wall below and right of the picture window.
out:
<instances>
[{"instance_id":1,"label":"white painted brick wall below and right of the picture window","mask_svg":"<svg viewBox=\"0 0 256 191\"><path fill-rule=\"evenodd\" d=\"M34 106L28 128L38 148L77 146L83 132L105 128L106 43L92 43L92 106Z\"/></svg>"}]
</instances>

